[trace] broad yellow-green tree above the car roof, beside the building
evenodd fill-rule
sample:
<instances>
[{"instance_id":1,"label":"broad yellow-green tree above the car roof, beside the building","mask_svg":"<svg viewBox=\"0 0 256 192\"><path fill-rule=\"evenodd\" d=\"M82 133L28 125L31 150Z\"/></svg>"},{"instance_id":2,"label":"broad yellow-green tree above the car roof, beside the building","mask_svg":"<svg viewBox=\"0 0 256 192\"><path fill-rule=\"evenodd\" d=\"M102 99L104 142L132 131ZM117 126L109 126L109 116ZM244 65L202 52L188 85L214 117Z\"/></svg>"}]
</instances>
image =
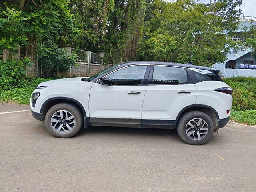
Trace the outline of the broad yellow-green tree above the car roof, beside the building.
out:
<instances>
[{"instance_id":1,"label":"broad yellow-green tree above the car roof, beside the building","mask_svg":"<svg viewBox=\"0 0 256 192\"><path fill-rule=\"evenodd\" d=\"M226 30L238 24L241 0L155 0L154 16L145 23L140 60L160 60L210 66L226 60L232 43ZM151 4L151 6L152 6Z\"/></svg>"}]
</instances>

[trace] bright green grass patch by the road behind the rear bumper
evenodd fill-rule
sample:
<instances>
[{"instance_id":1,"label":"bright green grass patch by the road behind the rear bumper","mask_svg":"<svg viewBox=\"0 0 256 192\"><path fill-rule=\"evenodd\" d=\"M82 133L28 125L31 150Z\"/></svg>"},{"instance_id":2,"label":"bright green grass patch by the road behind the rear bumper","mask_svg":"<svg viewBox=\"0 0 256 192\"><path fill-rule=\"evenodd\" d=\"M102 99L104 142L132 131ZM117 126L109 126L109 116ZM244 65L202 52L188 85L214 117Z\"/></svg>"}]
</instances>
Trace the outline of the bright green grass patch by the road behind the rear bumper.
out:
<instances>
[{"instance_id":1,"label":"bright green grass patch by the road behind the rear bumper","mask_svg":"<svg viewBox=\"0 0 256 192\"><path fill-rule=\"evenodd\" d=\"M231 111L230 120L242 124L256 125L256 110Z\"/></svg>"}]
</instances>

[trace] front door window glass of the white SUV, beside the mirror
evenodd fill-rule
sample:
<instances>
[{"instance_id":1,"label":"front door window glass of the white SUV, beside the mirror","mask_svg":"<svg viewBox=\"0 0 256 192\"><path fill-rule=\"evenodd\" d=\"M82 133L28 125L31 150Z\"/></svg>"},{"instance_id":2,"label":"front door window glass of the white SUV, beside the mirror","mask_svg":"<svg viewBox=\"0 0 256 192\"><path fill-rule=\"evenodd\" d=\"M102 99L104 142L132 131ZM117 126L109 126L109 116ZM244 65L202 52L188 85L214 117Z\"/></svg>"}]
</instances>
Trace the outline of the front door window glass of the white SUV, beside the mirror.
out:
<instances>
[{"instance_id":1,"label":"front door window glass of the white SUV, beside the mirror","mask_svg":"<svg viewBox=\"0 0 256 192\"><path fill-rule=\"evenodd\" d=\"M141 85L146 73L146 65L136 65L122 68L112 74L110 77L113 85Z\"/></svg>"}]
</instances>

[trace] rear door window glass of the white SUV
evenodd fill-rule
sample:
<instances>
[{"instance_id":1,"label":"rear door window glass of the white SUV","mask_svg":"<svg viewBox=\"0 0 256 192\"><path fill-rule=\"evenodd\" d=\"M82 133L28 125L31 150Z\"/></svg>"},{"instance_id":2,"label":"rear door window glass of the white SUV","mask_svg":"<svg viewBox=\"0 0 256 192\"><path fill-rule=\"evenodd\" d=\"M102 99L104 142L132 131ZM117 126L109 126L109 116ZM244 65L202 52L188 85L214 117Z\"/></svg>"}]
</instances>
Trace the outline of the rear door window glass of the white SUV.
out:
<instances>
[{"instance_id":1,"label":"rear door window glass of the white SUV","mask_svg":"<svg viewBox=\"0 0 256 192\"><path fill-rule=\"evenodd\" d=\"M154 66L152 84L185 84L188 74L184 68Z\"/></svg>"}]
</instances>

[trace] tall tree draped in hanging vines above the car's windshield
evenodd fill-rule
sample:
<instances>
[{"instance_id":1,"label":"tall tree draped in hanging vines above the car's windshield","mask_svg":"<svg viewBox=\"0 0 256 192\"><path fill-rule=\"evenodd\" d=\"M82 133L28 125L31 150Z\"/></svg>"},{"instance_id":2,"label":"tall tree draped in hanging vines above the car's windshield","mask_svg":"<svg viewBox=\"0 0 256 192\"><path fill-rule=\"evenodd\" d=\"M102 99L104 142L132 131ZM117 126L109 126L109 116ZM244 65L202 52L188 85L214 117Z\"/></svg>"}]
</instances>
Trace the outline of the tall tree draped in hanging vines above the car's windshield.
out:
<instances>
[{"instance_id":1,"label":"tall tree draped in hanging vines above the car's windshield","mask_svg":"<svg viewBox=\"0 0 256 192\"><path fill-rule=\"evenodd\" d=\"M134 60L142 38L146 0L75 0L69 2L79 30L73 47L106 52L112 62Z\"/></svg>"}]
</instances>

